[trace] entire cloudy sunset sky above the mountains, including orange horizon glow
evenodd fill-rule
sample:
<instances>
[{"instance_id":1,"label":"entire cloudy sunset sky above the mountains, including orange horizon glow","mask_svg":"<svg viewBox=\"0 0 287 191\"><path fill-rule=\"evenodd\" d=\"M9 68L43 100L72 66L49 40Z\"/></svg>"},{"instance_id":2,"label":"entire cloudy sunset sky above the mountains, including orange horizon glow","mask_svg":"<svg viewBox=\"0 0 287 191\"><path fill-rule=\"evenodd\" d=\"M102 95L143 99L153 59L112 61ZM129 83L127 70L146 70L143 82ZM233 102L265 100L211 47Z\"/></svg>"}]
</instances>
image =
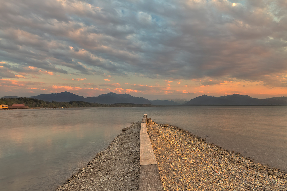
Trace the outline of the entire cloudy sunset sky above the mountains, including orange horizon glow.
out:
<instances>
[{"instance_id":1,"label":"entire cloudy sunset sky above the mountains, including orange horizon glow","mask_svg":"<svg viewBox=\"0 0 287 191\"><path fill-rule=\"evenodd\" d=\"M287 96L286 0L0 5L0 97Z\"/></svg>"}]
</instances>

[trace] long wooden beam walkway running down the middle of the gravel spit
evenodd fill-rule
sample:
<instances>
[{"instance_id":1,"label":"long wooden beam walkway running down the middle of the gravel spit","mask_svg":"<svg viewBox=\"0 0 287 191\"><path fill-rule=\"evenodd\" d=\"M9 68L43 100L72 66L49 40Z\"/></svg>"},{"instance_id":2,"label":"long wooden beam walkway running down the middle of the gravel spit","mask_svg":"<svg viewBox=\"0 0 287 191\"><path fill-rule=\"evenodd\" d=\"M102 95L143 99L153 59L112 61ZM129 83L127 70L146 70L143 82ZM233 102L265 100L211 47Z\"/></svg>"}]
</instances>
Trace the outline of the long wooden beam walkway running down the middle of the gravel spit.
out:
<instances>
[{"instance_id":1,"label":"long wooden beam walkway running down the middle of the gravel spit","mask_svg":"<svg viewBox=\"0 0 287 191\"><path fill-rule=\"evenodd\" d=\"M163 191L158 164L146 129L146 120L147 114L141 121L139 191Z\"/></svg>"}]
</instances>

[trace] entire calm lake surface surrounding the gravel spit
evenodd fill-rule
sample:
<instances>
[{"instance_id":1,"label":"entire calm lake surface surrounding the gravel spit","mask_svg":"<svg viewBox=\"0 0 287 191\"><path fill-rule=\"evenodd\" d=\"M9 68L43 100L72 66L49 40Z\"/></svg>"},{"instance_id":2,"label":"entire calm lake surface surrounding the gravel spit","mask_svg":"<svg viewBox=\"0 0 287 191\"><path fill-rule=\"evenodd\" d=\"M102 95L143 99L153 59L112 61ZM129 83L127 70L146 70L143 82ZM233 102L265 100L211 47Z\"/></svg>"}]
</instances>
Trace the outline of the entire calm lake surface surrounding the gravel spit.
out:
<instances>
[{"instance_id":1,"label":"entire calm lake surface surrounding the gravel spit","mask_svg":"<svg viewBox=\"0 0 287 191\"><path fill-rule=\"evenodd\" d=\"M286 106L8 110L0 111L0 190L55 190L146 113L287 170Z\"/></svg>"}]
</instances>

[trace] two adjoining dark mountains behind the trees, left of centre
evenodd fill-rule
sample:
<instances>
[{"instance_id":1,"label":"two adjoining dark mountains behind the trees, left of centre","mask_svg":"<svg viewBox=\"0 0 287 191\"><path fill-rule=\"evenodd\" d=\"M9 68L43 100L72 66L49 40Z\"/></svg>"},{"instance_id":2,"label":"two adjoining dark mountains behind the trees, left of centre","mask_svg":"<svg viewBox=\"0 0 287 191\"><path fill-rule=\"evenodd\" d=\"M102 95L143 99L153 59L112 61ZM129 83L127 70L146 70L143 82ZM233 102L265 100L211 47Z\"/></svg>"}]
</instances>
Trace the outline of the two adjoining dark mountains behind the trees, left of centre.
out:
<instances>
[{"instance_id":1,"label":"two adjoining dark mountains behind the trees, left of centre","mask_svg":"<svg viewBox=\"0 0 287 191\"><path fill-rule=\"evenodd\" d=\"M116 94L110 92L108 94L102 94L98 97L87 97L78 96L70 92L61 92L56 94L40 94L32 96L30 98L40 99L43 101L85 101L90 103L101 103L101 104L113 104L113 103L135 103L135 104L152 104L148 99L143 97L133 97L130 94Z\"/></svg>"}]
</instances>

